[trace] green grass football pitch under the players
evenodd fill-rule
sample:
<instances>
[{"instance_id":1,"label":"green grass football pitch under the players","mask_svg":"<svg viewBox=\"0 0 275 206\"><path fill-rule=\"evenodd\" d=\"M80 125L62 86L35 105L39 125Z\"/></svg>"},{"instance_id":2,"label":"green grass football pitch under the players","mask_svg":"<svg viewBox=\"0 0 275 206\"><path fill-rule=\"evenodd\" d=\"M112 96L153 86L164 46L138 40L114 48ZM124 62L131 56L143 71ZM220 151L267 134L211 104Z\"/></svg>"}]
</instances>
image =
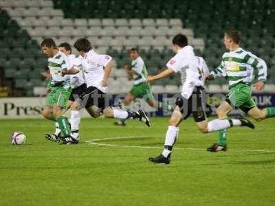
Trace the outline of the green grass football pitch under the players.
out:
<instances>
[{"instance_id":1,"label":"green grass football pitch under the players","mask_svg":"<svg viewBox=\"0 0 275 206\"><path fill-rule=\"evenodd\" d=\"M168 118L153 118L152 128L112 122L83 119L80 144L60 146L44 139L53 122L1 120L0 205L274 205L274 119L232 128L228 152L208 153L217 133L199 133L190 118L170 165L147 160L162 151ZM10 144L14 131L25 145ZM113 139L95 142L116 146L85 142L103 138Z\"/></svg>"}]
</instances>

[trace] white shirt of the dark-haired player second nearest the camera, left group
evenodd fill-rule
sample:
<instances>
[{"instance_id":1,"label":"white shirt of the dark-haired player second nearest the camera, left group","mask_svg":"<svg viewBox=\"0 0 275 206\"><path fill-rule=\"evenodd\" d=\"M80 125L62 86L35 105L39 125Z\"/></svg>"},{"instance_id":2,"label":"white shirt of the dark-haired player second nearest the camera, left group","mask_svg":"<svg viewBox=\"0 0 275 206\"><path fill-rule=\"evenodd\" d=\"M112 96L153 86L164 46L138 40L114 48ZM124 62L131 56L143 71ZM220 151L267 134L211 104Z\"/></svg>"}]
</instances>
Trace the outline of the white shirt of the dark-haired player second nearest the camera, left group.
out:
<instances>
[{"instance_id":1,"label":"white shirt of the dark-haired player second nearest the camera, left group","mask_svg":"<svg viewBox=\"0 0 275 206\"><path fill-rule=\"evenodd\" d=\"M87 87L96 87L104 93L108 91L107 87L102 87L102 81L104 67L111 59L111 56L97 54L92 49L81 58Z\"/></svg>"}]
</instances>

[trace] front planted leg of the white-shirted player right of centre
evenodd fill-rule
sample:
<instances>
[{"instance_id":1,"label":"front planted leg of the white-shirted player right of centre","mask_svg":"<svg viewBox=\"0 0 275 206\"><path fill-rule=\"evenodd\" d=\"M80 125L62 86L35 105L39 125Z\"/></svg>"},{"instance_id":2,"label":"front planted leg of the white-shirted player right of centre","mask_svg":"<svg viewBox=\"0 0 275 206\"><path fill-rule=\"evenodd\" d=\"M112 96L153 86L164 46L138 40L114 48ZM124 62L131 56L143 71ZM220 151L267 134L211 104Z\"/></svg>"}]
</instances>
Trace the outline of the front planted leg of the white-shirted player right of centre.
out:
<instances>
[{"instance_id":1,"label":"front planted leg of the white-shirted player right of centre","mask_svg":"<svg viewBox=\"0 0 275 206\"><path fill-rule=\"evenodd\" d=\"M181 114L179 106L175 107L170 119L168 130L166 131L164 150L162 154L157 157L150 157L148 160L153 163L170 163L170 155L173 149L173 146L179 135L179 124L182 121L183 116Z\"/></svg>"}]
</instances>

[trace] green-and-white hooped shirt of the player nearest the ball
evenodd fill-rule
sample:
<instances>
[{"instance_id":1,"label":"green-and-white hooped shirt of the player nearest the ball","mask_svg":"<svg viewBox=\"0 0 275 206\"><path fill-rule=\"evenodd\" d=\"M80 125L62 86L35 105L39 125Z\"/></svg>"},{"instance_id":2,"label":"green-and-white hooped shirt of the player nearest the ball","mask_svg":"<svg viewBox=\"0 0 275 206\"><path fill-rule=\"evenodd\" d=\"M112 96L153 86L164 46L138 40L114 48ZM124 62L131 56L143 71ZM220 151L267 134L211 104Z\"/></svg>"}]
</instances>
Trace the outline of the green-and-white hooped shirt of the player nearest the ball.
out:
<instances>
[{"instance_id":1,"label":"green-and-white hooped shirt of the player nearest the ball","mask_svg":"<svg viewBox=\"0 0 275 206\"><path fill-rule=\"evenodd\" d=\"M68 89L70 87L69 76L62 76L62 71L69 69L69 61L67 56L63 52L58 51L54 57L48 58L47 66L49 67L52 75L50 86L58 84L62 85L65 89Z\"/></svg>"}]
</instances>

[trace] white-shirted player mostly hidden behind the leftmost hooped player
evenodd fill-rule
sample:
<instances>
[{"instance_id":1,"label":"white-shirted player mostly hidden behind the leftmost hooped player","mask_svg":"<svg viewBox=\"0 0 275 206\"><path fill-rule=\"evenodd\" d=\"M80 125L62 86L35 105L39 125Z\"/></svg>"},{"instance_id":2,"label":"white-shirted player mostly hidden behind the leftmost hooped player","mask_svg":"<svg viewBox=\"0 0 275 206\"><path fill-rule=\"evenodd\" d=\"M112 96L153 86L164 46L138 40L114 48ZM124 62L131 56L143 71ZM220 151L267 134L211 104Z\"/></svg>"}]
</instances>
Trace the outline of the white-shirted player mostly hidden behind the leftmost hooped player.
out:
<instances>
[{"instance_id":1,"label":"white-shirted player mostly hidden behind the leftmost hooped player","mask_svg":"<svg viewBox=\"0 0 275 206\"><path fill-rule=\"evenodd\" d=\"M73 67L74 65L80 65L80 58L76 58L74 54L72 54L72 47L69 45L69 43L61 43L58 45L58 49L66 54L68 60L69 60L69 68ZM51 78L50 73L42 73L42 75L46 78ZM76 73L74 75L69 76L69 83L72 87L72 93L69 96L69 100L67 101L66 108L63 109L63 113L65 113L72 103L80 97L80 95L83 95L86 90L86 83L83 71L80 71L79 73ZM71 119L72 116L75 115L74 111L71 112ZM78 130L72 130L72 136L79 140L79 136L76 136L76 133L78 133ZM59 128L58 122L56 122L56 130L54 134L46 134L45 138L52 141L60 141L61 139L61 129Z\"/></svg>"}]
</instances>

